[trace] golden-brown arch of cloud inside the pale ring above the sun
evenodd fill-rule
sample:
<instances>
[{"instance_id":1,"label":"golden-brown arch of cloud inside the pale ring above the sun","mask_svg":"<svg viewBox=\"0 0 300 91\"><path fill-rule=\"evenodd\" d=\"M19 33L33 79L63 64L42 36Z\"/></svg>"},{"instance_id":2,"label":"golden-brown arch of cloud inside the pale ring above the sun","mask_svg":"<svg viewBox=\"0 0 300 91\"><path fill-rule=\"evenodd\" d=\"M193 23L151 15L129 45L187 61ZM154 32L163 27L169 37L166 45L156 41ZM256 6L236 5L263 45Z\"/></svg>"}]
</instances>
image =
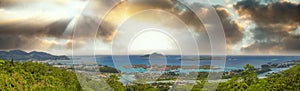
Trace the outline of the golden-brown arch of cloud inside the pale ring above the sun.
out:
<instances>
[{"instance_id":1,"label":"golden-brown arch of cloud inside the pale ring above the sun","mask_svg":"<svg viewBox=\"0 0 300 91\"><path fill-rule=\"evenodd\" d=\"M127 12L124 12L128 8ZM113 36L116 31L117 26L123 22L122 19L117 20L118 18L128 18L122 17L122 12L128 13L128 16L134 15L142 10L147 9L156 9L156 10L165 10L171 14L179 17L185 24L196 27L196 31L204 30L203 24L197 19L197 16L188 10L187 7L181 5L180 2L175 0L133 0L133 1L124 1L114 7L110 13L103 19L99 27L99 36L102 36L104 41L110 42L110 37ZM146 21L146 20L145 20ZM174 29L178 26L172 26Z\"/></svg>"}]
</instances>

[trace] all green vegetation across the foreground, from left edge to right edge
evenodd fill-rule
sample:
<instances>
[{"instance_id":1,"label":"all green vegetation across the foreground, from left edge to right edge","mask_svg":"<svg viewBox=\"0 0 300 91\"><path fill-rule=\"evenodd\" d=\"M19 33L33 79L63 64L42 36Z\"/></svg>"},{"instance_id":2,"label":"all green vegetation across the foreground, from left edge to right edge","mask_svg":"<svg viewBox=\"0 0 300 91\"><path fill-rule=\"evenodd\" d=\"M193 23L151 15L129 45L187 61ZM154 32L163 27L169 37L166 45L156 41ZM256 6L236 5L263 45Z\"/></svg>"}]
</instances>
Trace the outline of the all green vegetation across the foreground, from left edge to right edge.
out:
<instances>
[{"instance_id":1,"label":"all green vegetation across the foreground, from left edge to right edge","mask_svg":"<svg viewBox=\"0 0 300 91\"><path fill-rule=\"evenodd\" d=\"M105 67L104 70L111 69ZM114 72L110 70L109 72ZM171 74L171 73L170 73ZM73 71L66 71L45 64L33 62L11 62L0 60L0 90L59 90L59 91L167 91L174 83L152 83L152 84L128 84L119 82L117 75L110 75L105 79L95 79L88 77L87 74L79 73L78 80ZM206 73L201 73L206 76ZM211 90L203 89L216 85L208 83L205 78L193 88L192 91ZM205 84L206 83L206 84ZM178 90L191 88L190 85L174 87ZM251 65L244 66L244 70L239 75L233 76L230 80L222 82L217 87L218 91L299 91L300 90L300 64L282 72L271 74L267 78L258 79L257 72Z\"/></svg>"}]
</instances>

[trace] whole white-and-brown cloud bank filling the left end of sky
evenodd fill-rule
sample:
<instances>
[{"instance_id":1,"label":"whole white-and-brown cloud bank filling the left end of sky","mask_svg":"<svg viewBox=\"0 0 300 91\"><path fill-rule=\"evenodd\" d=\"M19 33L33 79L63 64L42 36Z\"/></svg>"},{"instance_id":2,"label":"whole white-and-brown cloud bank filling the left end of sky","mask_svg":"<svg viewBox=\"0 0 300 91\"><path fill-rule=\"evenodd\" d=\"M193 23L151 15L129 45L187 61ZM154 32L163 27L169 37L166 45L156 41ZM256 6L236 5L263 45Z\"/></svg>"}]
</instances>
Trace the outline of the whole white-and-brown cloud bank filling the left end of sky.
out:
<instances>
[{"instance_id":1,"label":"whole white-and-brown cloud bank filling the left end of sky","mask_svg":"<svg viewBox=\"0 0 300 91\"><path fill-rule=\"evenodd\" d=\"M48 50L72 38L70 22L84 0L1 0L0 50ZM69 26L69 27L68 27ZM49 39L51 41L49 41Z\"/></svg>"}]
</instances>

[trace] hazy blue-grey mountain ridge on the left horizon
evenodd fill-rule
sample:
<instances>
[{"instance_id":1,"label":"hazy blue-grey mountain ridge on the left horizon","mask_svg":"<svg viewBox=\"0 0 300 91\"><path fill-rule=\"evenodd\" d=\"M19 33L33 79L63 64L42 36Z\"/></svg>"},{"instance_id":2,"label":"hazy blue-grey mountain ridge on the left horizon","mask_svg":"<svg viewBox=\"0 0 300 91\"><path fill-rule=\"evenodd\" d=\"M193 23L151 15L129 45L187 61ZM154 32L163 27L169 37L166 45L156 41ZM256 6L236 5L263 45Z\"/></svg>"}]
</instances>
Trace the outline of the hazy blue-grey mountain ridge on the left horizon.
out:
<instances>
[{"instance_id":1,"label":"hazy blue-grey mountain ridge on the left horizon","mask_svg":"<svg viewBox=\"0 0 300 91\"><path fill-rule=\"evenodd\" d=\"M46 52L32 51L27 53L22 50L0 51L0 59L11 60L12 58L16 61L70 60L70 58L65 55L56 56Z\"/></svg>"}]
</instances>

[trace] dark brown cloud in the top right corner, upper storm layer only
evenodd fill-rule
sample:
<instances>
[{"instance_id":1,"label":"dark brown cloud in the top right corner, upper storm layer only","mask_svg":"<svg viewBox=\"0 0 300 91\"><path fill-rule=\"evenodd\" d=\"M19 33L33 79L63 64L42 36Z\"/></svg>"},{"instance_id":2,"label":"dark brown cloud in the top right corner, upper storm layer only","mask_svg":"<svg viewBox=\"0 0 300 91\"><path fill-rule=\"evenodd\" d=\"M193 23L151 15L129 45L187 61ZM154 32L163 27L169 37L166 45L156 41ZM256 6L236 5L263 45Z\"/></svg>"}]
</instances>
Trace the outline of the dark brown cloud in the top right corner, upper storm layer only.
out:
<instances>
[{"instance_id":1,"label":"dark brown cloud in the top right corner, upper storm layer only","mask_svg":"<svg viewBox=\"0 0 300 91\"><path fill-rule=\"evenodd\" d=\"M300 5L291 2L260 4L256 0L243 0L234 5L240 15L251 15L257 24L300 23Z\"/></svg>"}]
</instances>

